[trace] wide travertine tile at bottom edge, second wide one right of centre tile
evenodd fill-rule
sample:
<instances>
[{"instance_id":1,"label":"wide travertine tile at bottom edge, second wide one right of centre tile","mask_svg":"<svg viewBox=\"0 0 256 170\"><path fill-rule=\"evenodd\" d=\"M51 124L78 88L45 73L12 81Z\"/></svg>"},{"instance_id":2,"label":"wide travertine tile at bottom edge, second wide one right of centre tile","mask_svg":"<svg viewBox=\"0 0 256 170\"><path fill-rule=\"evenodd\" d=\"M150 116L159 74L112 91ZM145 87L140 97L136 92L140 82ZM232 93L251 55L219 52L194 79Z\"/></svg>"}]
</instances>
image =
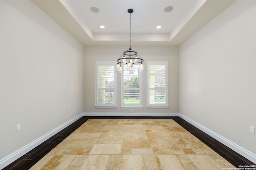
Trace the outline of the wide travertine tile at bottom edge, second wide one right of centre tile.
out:
<instances>
[{"instance_id":1,"label":"wide travertine tile at bottom edge, second wide one right of centre tile","mask_svg":"<svg viewBox=\"0 0 256 170\"><path fill-rule=\"evenodd\" d=\"M221 170L221 166L207 154L189 154L188 157L200 170Z\"/></svg>"}]
</instances>

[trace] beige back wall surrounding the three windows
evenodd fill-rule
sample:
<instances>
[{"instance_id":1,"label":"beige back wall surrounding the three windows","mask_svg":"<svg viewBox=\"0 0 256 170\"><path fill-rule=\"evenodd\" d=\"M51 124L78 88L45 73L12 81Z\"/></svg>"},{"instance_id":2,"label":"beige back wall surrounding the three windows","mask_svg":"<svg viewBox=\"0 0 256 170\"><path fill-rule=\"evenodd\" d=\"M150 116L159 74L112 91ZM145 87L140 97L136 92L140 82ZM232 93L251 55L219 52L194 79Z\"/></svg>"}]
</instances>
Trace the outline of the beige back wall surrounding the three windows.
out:
<instances>
[{"instance_id":1,"label":"beige back wall surrounding the three windows","mask_svg":"<svg viewBox=\"0 0 256 170\"><path fill-rule=\"evenodd\" d=\"M117 76L117 108L96 109L95 106L95 62L116 61L129 46L87 46L84 47L84 112L86 113L130 113L130 109L122 109L121 74ZM144 59L142 109L133 109L134 113L178 113L178 47L141 47L132 46ZM147 109L147 61L168 61L169 65L169 108Z\"/></svg>"}]
</instances>

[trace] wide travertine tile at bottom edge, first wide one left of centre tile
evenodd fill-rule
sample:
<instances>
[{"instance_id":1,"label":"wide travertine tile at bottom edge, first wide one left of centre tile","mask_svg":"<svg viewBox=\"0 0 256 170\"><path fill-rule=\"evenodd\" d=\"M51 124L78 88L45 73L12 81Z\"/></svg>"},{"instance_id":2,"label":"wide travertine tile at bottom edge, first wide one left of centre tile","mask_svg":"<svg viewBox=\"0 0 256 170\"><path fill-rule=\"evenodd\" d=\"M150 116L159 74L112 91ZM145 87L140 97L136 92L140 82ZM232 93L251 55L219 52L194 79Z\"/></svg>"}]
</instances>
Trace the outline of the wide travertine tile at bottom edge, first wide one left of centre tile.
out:
<instances>
[{"instance_id":1,"label":"wide travertine tile at bottom edge, first wide one left of centre tile","mask_svg":"<svg viewBox=\"0 0 256 170\"><path fill-rule=\"evenodd\" d=\"M88 155L81 170L106 170L109 155Z\"/></svg>"}]
</instances>

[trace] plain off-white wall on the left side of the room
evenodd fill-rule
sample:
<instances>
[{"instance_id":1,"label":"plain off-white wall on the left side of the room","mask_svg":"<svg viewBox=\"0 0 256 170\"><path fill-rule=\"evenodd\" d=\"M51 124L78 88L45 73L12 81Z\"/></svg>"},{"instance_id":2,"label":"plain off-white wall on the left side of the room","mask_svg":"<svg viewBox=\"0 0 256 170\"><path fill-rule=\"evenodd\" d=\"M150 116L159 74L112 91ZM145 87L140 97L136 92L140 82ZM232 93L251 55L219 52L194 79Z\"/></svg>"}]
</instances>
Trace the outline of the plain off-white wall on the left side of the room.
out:
<instances>
[{"instance_id":1,"label":"plain off-white wall on the left side of the room","mask_svg":"<svg viewBox=\"0 0 256 170\"><path fill-rule=\"evenodd\" d=\"M83 112L83 46L31 1L0 1L0 49L1 160Z\"/></svg>"}]
</instances>

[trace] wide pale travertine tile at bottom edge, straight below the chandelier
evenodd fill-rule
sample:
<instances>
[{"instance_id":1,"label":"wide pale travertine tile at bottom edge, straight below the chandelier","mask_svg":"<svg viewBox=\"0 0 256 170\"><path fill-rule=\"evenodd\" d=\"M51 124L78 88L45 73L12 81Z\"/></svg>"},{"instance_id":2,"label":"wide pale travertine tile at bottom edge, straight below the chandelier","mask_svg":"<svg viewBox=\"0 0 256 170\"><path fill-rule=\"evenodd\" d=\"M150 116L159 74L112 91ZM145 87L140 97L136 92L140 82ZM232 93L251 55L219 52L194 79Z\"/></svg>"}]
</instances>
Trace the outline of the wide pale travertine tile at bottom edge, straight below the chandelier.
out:
<instances>
[{"instance_id":1,"label":"wide pale travertine tile at bottom edge, straight below the chandelier","mask_svg":"<svg viewBox=\"0 0 256 170\"><path fill-rule=\"evenodd\" d=\"M122 155L120 170L146 170L143 156L128 154Z\"/></svg>"}]
</instances>

